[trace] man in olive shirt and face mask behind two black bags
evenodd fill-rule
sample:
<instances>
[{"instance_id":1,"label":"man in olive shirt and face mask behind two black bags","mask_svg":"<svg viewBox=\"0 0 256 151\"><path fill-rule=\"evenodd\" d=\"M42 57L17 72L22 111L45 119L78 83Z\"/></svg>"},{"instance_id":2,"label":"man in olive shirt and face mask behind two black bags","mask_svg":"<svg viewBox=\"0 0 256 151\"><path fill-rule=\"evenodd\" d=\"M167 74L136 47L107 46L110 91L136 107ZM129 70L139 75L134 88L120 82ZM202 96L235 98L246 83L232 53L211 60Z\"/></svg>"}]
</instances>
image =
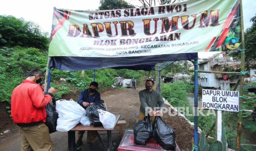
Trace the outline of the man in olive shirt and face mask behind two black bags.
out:
<instances>
[{"instance_id":1,"label":"man in olive shirt and face mask behind two black bags","mask_svg":"<svg viewBox=\"0 0 256 151\"><path fill-rule=\"evenodd\" d=\"M153 89L154 81L146 80L145 87L146 89L139 92L140 114L138 120L143 120L145 115L149 113L152 116L151 120L154 121L155 115L162 115L162 111L154 111L154 107L165 107L165 103L161 94Z\"/></svg>"}]
</instances>

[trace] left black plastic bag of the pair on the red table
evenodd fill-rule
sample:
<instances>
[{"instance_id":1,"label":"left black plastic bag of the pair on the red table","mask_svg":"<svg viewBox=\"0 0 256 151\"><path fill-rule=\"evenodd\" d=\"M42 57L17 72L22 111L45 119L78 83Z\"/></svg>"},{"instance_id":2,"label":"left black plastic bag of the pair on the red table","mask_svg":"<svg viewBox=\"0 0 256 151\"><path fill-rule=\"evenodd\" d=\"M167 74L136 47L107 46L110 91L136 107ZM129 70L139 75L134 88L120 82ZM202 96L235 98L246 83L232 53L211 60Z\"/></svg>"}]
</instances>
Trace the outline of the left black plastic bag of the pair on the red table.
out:
<instances>
[{"instance_id":1,"label":"left black plastic bag of the pair on the red table","mask_svg":"<svg viewBox=\"0 0 256 151\"><path fill-rule=\"evenodd\" d=\"M134 143L145 145L152 137L152 122L150 116L145 116L144 120L140 120L133 128Z\"/></svg>"}]
</instances>

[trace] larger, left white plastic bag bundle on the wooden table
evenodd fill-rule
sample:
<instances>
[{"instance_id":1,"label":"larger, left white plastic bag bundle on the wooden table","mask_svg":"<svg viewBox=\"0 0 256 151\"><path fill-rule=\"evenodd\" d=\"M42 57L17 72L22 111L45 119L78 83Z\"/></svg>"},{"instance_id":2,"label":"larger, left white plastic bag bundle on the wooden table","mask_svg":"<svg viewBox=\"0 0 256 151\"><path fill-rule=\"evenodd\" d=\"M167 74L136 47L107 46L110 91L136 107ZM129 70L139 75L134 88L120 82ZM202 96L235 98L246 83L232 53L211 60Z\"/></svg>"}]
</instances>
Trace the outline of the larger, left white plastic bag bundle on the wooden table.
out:
<instances>
[{"instance_id":1,"label":"larger, left white plastic bag bundle on the wooden table","mask_svg":"<svg viewBox=\"0 0 256 151\"><path fill-rule=\"evenodd\" d=\"M69 131L73 129L81 118L85 115L85 109L77 102L67 100L56 101L56 111L59 118L57 120L57 131Z\"/></svg>"}]
</instances>

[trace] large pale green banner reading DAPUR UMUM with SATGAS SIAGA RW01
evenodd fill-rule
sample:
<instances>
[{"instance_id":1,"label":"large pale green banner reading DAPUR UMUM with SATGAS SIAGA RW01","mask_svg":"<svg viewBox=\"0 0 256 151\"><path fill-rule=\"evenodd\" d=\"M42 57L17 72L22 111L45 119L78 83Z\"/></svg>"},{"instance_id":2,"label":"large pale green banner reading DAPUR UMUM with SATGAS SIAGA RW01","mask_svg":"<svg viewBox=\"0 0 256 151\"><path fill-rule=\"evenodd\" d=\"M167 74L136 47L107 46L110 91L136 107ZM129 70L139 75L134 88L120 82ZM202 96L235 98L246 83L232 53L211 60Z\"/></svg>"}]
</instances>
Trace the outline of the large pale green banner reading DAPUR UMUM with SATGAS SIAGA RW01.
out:
<instances>
[{"instance_id":1,"label":"large pale green banner reading DAPUR UMUM with SATGAS SIAGA RW01","mask_svg":"<svg viewBox=\"0 0 256 151\"><path fill-rule=\"evenodd\" d=\"M191 0L150 8L54 9L49 56L130 57L235 51L238 0Z\"/></svg>"}]
</instances>

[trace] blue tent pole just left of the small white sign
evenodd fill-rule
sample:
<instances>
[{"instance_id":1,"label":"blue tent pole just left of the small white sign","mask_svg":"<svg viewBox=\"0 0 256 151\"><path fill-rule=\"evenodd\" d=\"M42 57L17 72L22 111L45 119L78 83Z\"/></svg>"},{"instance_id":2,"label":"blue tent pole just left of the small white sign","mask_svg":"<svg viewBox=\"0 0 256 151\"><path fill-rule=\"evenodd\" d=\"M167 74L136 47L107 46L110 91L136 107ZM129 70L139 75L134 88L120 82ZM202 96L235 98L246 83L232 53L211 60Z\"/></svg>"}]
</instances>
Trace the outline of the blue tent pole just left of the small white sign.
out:
<instances>
[{"instance_id":1,"label":"blue tent pole just left of the small white sign","mask_svg":"<svg viewBox=\"0 0 256 151\"><path fill-rule=\"evenodd\" d=\"M195 87L194 87L194 150L198 150L198 59L194 60L194 77L195 77Z\"/></svg>"}]
</instances>

